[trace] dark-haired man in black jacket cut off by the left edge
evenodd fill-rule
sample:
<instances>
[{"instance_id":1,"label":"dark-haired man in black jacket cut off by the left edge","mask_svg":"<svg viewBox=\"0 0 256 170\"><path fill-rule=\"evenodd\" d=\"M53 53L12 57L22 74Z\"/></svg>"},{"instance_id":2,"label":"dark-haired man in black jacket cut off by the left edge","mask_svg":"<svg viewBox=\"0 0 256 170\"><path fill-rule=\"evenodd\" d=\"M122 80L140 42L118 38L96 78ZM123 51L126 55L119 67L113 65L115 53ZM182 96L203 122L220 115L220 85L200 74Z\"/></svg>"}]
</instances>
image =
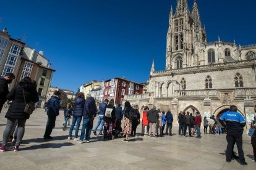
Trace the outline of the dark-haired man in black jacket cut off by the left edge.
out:
<instances>
[{"instance_id":1,"label":"dark-haired man in black jacket cut off by the left edge","mask_svg":"<svg viewBox=\"0 0 256 170\"><path fill-rule=\"evenodd\" d=\"M13 79L15 79L15 76L12 73L6 73L4 77L0 77L0 113L7 100L6 95L9 93L8 84L12 83Z\"/></svg>"}]
</instances>

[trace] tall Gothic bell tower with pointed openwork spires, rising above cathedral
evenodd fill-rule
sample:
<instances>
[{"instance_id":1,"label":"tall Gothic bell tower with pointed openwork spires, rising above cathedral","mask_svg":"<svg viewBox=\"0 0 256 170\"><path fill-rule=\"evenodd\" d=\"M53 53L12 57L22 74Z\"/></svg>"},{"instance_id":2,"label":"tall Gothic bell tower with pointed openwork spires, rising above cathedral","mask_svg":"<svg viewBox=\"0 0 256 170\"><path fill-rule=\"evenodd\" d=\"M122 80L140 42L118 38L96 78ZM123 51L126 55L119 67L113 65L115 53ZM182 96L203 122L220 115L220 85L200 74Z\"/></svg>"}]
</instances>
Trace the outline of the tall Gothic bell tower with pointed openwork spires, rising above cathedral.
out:
<instances>
[{"instance_id":1,"label":"tall Gothic bell tower with pointed openwork spires, rising above cathedral","mask_svg":"<svg viewBox=\"0 0 256 170\"><path fill-rule=\"evenodd\" d=\"M169 28L166 42L166 70L193 67L198 65L197 47L205 42L205 31L202 29L197 1L194 0L190 14L187 0L177 0L176 11L173 7L169 14ZM199 52L199 51L197 51Z\"/></svg>"}]
</instances>

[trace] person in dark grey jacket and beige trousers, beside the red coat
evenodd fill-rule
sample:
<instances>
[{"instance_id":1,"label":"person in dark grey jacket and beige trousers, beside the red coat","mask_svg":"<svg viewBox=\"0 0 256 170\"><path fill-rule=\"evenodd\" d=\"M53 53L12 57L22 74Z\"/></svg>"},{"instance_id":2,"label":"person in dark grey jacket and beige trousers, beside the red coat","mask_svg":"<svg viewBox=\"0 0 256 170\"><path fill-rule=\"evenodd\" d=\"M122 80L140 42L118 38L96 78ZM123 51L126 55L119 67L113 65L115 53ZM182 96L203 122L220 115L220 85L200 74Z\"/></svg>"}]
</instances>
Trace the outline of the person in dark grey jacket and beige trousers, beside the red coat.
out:
<instances>
[{"instance_id":1,"label":"person in dark grey jacket and beige trousers, beside the red coat","mask_svg":"<svg viewBox=\"0 0 256 170\"><path fill-rule=\"evenodd\" d=\"M159 118L159 115L155 106L150 111L148 111L147 116L148 116L148 124L150 126L148 133L151 136L151 131L153 131L153 137L156 137L156 122Z\"/></svg>"}]
</instances>

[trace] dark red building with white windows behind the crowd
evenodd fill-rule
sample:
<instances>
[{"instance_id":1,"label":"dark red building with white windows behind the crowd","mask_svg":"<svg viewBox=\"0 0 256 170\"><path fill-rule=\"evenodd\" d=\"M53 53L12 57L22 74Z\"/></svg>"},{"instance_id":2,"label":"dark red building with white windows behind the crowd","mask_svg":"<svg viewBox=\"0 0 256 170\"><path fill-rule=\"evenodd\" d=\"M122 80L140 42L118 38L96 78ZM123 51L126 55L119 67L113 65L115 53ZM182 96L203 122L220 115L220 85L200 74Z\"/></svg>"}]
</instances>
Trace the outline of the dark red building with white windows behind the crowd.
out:
<instances>
[{"instance_id":1,"label":"dark red building with white windows behind the crowd","mask_svg":"<svg viewBox=\"0 0 256 170\"><path fill-rule=\"evenodd\" d=\"M124 95L142 94L143 84L136 83L124 78L108 79L104 82L104 100L114 99L114 102L121 103Z\"/></svg>"}]
</instances>

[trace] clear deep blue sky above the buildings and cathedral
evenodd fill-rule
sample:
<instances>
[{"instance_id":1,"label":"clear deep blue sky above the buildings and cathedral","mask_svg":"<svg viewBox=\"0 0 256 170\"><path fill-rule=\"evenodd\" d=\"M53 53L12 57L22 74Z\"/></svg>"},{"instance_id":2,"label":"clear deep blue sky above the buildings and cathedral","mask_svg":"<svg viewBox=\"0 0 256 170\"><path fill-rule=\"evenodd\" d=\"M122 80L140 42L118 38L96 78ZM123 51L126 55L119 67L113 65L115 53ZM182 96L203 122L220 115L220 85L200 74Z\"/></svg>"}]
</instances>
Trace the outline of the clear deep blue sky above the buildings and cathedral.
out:
<instances>
[{"instance_id":1,"label":"clear deep blue sky above the buildings and cathedral","mask_svg":"<svg viewBox=\"0 0 256 170\"><path fill-rule=\"evenodd\" d=\"M188 0L192 9L194 0ZM52 86L77 91L92 80L149 78L164 70L166 33L176 0L1 1L0 29L44 55L56 70ZM197 0L208 42L256 44L255 0ZM25 35L25 36L24 36Z\"/></svg>"}]
</instances>

